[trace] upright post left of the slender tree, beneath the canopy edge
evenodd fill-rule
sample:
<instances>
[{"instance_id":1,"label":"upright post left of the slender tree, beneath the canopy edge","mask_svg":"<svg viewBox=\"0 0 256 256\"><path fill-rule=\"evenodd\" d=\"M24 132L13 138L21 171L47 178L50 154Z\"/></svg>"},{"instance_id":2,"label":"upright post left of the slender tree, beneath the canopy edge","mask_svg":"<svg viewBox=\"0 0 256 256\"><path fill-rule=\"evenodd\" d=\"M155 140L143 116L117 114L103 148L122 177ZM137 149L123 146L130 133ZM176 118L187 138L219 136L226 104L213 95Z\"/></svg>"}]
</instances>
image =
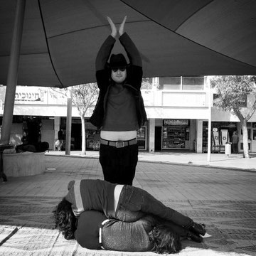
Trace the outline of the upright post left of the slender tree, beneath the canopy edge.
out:
<instances>
[{"instance_id":1,"label":"upright post left of the slender tree, beneath the canopy edge","mask_svg":"<svg viewBox=\"0 0 256 256\"><path fill-rule=\"evenodd\" d=\"M72 88L68 90L68 99L67 99L67 122L66 122L66 137L65 137L65 154L66 155L70 155L71 124L72 124Z\"/></svg>"}]
</instances>

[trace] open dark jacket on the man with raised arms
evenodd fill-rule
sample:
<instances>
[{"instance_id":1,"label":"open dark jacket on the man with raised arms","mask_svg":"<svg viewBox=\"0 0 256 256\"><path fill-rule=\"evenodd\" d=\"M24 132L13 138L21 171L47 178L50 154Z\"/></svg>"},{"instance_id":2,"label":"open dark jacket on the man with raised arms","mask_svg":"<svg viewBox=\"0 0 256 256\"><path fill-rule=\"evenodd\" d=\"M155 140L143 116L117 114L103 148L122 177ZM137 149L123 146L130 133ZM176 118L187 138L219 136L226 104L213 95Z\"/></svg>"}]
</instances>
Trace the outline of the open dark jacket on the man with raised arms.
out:
<instances>
[{"instance_id":1,"label":"open dark jacket on the man with raised arms","mask_svg":"<svg viewBox=\"0 0 256 256\"><path fill-rule=\"evenodd\" d=\"M146 111L144 108L142 93L140 91L140 87L142 85L142 59L140 58L139 51L127 33L120 36L119 41L122 46L124 46L124 50L127 52L130 62L127 67L127 79L124 82L124 86L129 88L134 95L137 120L140 128L144 125L144 122L146 122ZM97 86L100 89L100 94L97 99L95 110L90 117L90 122L98 129L102 127L105 119L108 92L110 90L110 86L113 84L111 79L111 69L107 66L107 60L110 58L110 53L114 47L114 43L115 39L112 36L108 36L102 44L96 58L96 80Z\"/></svg>"}]
</instances>

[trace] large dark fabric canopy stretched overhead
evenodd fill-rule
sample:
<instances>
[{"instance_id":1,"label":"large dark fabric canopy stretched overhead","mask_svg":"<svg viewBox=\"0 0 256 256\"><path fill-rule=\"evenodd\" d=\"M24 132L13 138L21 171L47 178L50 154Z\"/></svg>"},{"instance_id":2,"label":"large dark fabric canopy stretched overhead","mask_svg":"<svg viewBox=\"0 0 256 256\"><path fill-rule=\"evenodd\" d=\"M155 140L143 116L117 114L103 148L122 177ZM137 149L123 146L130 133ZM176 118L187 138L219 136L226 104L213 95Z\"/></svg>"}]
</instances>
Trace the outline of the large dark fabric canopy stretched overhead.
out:
<instances>
[{"instance_id":1,"label":"large dark fabric canopy stretched overhead","mask_svg":"<svg viewBox=\"0 0 256 256\"><path fill-rule=\"evenodd\" d=\"M0 84L6 85L16 0L0 0ZM144 77L256 75L255 0L26 0L18 85L95 81L114 23L142 55ZM114 52L122 47L117 41Z\"/></svg>"}]
</instances>

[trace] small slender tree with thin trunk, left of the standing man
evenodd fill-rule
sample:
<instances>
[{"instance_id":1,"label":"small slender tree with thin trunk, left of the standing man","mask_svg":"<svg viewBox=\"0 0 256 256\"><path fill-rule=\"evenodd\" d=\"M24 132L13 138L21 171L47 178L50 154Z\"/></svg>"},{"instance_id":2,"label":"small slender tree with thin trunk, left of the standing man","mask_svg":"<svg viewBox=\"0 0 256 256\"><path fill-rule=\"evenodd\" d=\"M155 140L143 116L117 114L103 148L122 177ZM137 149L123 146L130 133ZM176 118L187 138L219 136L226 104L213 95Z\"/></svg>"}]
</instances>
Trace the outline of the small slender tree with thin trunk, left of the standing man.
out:
<instances>
[{"instance_id":1,"label":"small slender tree with thin trunk, left of the standing man","mask_svg":"<svg viewBox=\"0 0 256 256\"><path fill-rule=\"evenodd\" d=\"M68 89L57 89L52 88L54 92L67 95ZM72 87L72 102L77 107L80 119L81 119L81 129L82 129L82 152L81 154L86 154L86 137L85 137L85 114L87 110L90 109L97 102L97 97L99 95L99 89L96 83L88 83L82 85L76 85Z\"/></svg>"}]
</instances>

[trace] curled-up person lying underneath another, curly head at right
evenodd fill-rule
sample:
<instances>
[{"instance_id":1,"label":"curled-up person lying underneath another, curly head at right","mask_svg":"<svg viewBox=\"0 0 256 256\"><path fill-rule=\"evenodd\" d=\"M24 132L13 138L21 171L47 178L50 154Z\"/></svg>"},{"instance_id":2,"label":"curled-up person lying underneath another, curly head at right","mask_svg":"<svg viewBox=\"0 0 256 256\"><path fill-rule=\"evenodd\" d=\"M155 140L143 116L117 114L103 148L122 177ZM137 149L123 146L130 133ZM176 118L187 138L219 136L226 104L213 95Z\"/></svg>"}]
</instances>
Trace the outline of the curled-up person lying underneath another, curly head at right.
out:
<instances>
[{"instance_id":1,"label":"curled-up person lying underneath another, curly head at right","mask_svg":"<svg viewBox=\"0 0 256 256\"><path fill-rule=\"evenodd\" d=\"M203 240L201 236L154 215L145 215L133 223L126 223L107 219L104 213L97 210L81 213L73 233L65 233L64 229L63 235L68 240L77 240L82 247L90 250L124 252L176 253L181 250L183 239Z\"/></svg>"}]
</instances>

